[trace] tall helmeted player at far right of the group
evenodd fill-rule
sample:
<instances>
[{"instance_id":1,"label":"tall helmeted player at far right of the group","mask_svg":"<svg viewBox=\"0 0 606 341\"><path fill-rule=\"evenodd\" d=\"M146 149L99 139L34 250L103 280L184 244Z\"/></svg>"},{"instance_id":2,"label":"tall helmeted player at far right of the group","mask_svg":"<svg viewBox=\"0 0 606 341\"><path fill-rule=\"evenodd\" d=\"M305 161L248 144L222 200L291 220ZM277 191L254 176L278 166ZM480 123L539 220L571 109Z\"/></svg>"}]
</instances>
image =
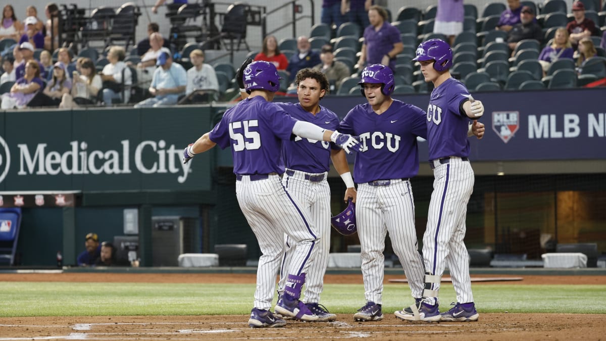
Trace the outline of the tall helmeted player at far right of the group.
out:
<instances>
[{"instance_id":1,"label":"tall helmeted player at far right of the group","mask_svg":"<svg viewBox=\"0 0 606 341\"><path fill-rule=\"evenodd\" d=\"M474 174L469 162L468 130L484 135L484 125L476 121L484 114L481 101L474 101L465 86L451 78L453 53L440 39L421 42L413 59L421 64L425 81L435 89L427 109L429 162L433 169L433 193L427 229L423 237L425 261L424 299L396 311L404 320L439 322L477 321L469 275L469 255L463 243L467 203L473 191ZM453 279L457 303L440 314L438 292L444 266Z\"/></svg>"}]
</instances>

